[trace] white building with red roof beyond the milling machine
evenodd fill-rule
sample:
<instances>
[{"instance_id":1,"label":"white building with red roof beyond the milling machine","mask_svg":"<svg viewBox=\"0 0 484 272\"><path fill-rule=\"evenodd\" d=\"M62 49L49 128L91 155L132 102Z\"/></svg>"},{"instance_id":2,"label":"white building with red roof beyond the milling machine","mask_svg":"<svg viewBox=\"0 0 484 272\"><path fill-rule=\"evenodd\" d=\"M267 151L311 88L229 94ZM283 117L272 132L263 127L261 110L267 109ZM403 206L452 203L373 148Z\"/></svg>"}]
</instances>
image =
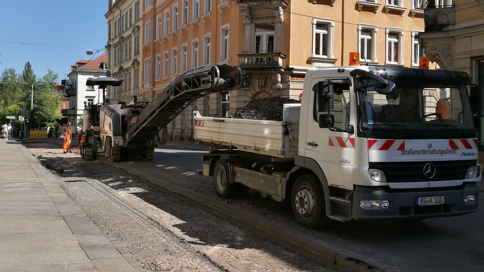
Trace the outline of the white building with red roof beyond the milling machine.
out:
<instances>
[{"instance_id":1,"label":"white building with red roof beyond the milling machine","mask_svg":"<svg viewBox=\"0 0 484 272\"><path fill-rule=\"evenodd\" d=\"M94 60L78 60L71 67L65 90L66 97L69 98L69 110L64 110L62 114L68 116L72 125L76 126L77 120L82 117L84 103L103 102L103 90L86 86L86 81L89 77L106 77L107 54L104 53Z\"/></svg>"}]
</instances>

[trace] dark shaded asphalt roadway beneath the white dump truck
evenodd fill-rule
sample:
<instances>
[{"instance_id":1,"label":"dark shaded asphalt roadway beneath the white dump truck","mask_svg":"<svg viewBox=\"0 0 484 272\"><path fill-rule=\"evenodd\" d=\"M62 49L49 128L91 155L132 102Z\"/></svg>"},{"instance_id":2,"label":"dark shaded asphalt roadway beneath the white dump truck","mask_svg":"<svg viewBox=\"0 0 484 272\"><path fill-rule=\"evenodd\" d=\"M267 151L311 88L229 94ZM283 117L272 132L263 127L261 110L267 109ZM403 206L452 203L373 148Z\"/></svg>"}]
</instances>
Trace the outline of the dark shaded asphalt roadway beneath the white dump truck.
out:
<instances>
[{"instance_id":1,"label":"dark shaded asphalt roadway beneath the white dump truck","mask_svg":"<svg viewBox=\"0 0 484 272\"><path fill-rule=\"evenodd\" d=\"M157 148L154 160L119 163L159 182L226 205L234 213L255 218L267 226L311 241L321 247L362 259L388 271L483 271L484 212L406 222L351 222L327 230L309 230L296 224L289 203L265 199L257 193L225 200L212 192L212 178L198 176L200 155L206 151ZM481 199L483 194L481 194ZM150 203L150 199L146 199Z\"/></svg>"}]
</instances>

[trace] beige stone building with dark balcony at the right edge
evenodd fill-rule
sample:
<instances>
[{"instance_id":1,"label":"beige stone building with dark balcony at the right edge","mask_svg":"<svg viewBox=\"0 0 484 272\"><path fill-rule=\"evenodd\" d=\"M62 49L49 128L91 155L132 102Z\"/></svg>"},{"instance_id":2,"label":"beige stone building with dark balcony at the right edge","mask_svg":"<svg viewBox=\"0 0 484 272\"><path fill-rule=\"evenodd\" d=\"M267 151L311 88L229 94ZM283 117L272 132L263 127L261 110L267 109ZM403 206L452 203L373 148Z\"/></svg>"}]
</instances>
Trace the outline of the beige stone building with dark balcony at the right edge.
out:
<instances>
[{"instance_id":1,"label":"beige stone building with dark balcony at the right edge","mask_svg":"<svg viewBox=\"0 0 484 272\"><path fill-rule=\"evenodd\" d=\"M421 39L426 57L442 69L467 72L480 86L484 101L484 0L438 0L428 5ZM481 124L483 117L481 112ZM482 126L479 150L484 150ZM484 153L479 154L480 161L481 156Z\"/></svg>"}]
</instances>

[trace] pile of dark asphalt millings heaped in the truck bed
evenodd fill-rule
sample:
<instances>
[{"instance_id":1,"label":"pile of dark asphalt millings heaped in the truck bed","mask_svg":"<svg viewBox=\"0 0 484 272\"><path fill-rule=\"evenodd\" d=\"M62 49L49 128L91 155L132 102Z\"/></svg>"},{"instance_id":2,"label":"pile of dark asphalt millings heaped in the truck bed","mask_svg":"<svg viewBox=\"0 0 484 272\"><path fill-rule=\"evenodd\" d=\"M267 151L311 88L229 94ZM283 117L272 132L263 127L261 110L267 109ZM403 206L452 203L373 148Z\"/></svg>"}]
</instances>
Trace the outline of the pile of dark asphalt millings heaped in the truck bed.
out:
<instances>
[{"instance_id":1,"label":"pile of dark asphalt millings heaped in the truck bed","mask_svg":"<svg viewBox=\"0 0 484 272\"><path fill-rule=\"evenodd\" d=\"M282 121L284 104L300 104L298 100L284 97L268 97L252 100L246 106L238 109L232 116L234 119Z\"/></svg>"}]
</instances>

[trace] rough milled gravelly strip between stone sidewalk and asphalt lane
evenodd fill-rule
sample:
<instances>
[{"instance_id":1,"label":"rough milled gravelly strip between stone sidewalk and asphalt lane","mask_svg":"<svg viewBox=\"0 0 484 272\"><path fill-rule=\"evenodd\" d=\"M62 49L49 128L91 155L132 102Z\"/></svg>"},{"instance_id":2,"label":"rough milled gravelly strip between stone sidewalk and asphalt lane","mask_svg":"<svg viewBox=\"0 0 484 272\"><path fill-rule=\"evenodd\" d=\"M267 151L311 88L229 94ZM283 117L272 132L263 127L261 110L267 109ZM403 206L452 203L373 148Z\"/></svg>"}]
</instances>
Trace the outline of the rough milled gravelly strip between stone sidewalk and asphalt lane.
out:
<instances>
[{"instance_id":1,"label":"rough milled gravelly strip between stone sidewalk and asphalt lane","mask_svg":"<svg viewBox=\"0 0 484 272\"><path fill-rule=\"evenodd\" d=\"M77 154L28 144L64 172L69 196L150 271L335 272L290 248L236 227L147 181Z\"/></svg>"}]
</instances>

